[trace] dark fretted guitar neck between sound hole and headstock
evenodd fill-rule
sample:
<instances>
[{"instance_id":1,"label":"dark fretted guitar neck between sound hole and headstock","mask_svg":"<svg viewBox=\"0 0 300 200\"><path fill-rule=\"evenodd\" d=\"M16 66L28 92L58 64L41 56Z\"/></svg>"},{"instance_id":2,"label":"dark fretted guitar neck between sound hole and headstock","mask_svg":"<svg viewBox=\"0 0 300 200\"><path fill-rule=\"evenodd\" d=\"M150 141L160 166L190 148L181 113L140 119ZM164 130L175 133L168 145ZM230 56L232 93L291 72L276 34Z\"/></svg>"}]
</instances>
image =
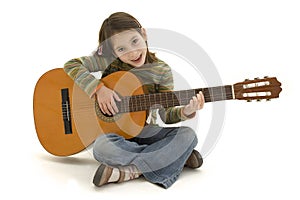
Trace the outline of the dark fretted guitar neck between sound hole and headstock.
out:
<instances>
[{"instance_id":1,"label":"dark fretted guitar neck between sound hole and headstock","mask_svg":"<svg viewBox=\"0 0 300 200\"><path fill-rule=\"evenodd\" d=\"M155 108L169 108L187 105L197 93L202 91L205 102L224 101L233 99L232 85L125 96L118 102L119 111L137 112Z\"/></svg>"}]
</instances>

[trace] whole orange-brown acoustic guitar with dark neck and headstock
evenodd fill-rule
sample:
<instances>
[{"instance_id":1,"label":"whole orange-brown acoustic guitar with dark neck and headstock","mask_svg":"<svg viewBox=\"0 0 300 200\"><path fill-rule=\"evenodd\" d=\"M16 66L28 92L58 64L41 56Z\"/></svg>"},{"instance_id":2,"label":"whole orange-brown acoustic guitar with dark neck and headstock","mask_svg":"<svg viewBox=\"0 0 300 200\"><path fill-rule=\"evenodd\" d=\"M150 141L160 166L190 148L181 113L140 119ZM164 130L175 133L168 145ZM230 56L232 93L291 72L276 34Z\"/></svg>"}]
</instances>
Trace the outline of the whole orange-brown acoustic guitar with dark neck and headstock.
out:
<instances>
[{"instance_id":1,"label":"whole orange-brown acoustic guitar with dark neck and headstock","mask_svg":"<svg viewBox=\"0 0 300 200\"><path fill-rule=\"evenodd\" d=\"M146 94L140 80L130 72L115 72L102 79L105 86L121 97L119 113L101 112L62 68L50 70L38 80L33 99L34 121L42 146L56 156L78 153L100 134L117 133L125 138L138 135L149 109L187 105L196 93L203 92L205 102L223 100L270 100L278 98L281 83L275 77L245 80L234 85Z\"/></svg>"}]
</instances>

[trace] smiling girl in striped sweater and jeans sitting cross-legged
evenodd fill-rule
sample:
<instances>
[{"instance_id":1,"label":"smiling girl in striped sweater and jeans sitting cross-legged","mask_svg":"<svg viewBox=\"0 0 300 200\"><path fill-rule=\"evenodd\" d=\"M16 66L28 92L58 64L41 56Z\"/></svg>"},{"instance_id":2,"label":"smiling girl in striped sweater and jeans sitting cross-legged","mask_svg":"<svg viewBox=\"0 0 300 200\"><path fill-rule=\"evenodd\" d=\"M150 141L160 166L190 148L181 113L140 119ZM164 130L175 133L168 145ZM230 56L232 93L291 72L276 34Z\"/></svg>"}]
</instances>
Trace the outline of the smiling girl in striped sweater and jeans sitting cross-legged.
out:
<instances>
[{"instance_id":1,"label":"smiling girl in striped sweater and jeans sitting cross-legged","mask_svg":"<svg viewBox=\"0 0 300 200\"><path fill-rule=\"evenodd\" d=\"M102 78L116 71L131 71L149 93L173 90L170 67L149 52L147 34L131 15L114 13L102 24L99 47L91 56L70 60L65 72L91 98L96 97L100 110L107 115L118 113L118 94L106 87L91 72L101 71ZM130 81L130 80L128 80ZM151 183L170 187L186 167L202 165L195 132L188 127L160 127L157 113L167 123L193 118L204 106L200 92L186 106L151 110L141 133L131 139L115 133L100 135L94 142L93 154L100 162L93 183L102 186L135 179L143 175Z\"/></svg>"}]
</instances>

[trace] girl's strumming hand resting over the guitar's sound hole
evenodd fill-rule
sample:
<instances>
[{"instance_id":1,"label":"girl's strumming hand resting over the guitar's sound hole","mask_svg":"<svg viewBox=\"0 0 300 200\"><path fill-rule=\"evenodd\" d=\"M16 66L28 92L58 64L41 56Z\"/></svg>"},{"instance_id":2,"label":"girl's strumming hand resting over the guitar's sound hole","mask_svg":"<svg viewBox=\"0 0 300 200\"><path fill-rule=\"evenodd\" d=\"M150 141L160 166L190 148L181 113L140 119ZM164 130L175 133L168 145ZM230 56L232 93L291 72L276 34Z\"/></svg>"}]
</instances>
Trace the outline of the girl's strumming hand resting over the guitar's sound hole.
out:
<instances>
[{"instance_id":1,"label":"girl's strumming hand resting over the guitar's sound hole","mask_svg":"<svg viewBox=\"0 0 300 200\"><path fill-rule=\"evenodd\" d=\"M119 109L116 105L115 100L121 101L119 96L111 89L103 85L97 92L97 101L100 107L100 110L104 114L115 115L119 112Z\"/></svg>"}]
</instances>

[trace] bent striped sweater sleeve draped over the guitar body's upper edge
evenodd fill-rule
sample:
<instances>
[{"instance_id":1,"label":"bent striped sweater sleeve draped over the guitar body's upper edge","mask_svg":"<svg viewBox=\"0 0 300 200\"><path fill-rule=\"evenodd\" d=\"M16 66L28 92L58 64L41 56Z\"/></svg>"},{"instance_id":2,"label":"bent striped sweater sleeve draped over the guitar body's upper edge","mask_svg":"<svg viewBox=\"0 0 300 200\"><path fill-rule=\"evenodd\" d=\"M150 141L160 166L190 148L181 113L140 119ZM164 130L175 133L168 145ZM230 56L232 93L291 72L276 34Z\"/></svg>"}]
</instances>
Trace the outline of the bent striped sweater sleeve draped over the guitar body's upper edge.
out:
<instances>
[{"instance_id":1,"label":"bent striped sweater sleeve draped over the guitar body's upper edge","mask_svg":"<svg viewBox=\"0 0 300 200\"><path fill-rule=\"evenodd\" d=\"M91 55L69 60L64 65L64 71L89 97L92 97L101 81L91 72L103 72L106 66L107 62L104 58Z\"/></svg>"}]
</instances>

